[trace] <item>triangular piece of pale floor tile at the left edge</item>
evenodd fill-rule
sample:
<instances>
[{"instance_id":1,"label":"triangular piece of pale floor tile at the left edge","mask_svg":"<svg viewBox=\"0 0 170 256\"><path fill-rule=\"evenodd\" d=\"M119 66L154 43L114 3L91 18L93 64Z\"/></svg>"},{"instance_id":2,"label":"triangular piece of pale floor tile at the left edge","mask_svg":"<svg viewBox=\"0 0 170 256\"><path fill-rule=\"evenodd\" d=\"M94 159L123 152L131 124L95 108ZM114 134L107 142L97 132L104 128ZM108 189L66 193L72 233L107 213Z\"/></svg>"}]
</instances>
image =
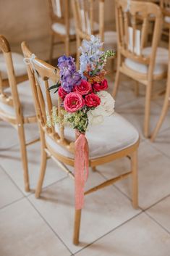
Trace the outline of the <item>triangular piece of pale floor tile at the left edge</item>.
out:
<instances>
[{"instance_id":1,"label":"triangular piece of pale floor tile at the left edge","mask_svg":"<svg viewBox=\"0 0 170 256\"><path fill-rule=\"evenodd\" d=\"M0 208L23 197L21 191L0 167Z\"/></svg>"}]
</instances>

